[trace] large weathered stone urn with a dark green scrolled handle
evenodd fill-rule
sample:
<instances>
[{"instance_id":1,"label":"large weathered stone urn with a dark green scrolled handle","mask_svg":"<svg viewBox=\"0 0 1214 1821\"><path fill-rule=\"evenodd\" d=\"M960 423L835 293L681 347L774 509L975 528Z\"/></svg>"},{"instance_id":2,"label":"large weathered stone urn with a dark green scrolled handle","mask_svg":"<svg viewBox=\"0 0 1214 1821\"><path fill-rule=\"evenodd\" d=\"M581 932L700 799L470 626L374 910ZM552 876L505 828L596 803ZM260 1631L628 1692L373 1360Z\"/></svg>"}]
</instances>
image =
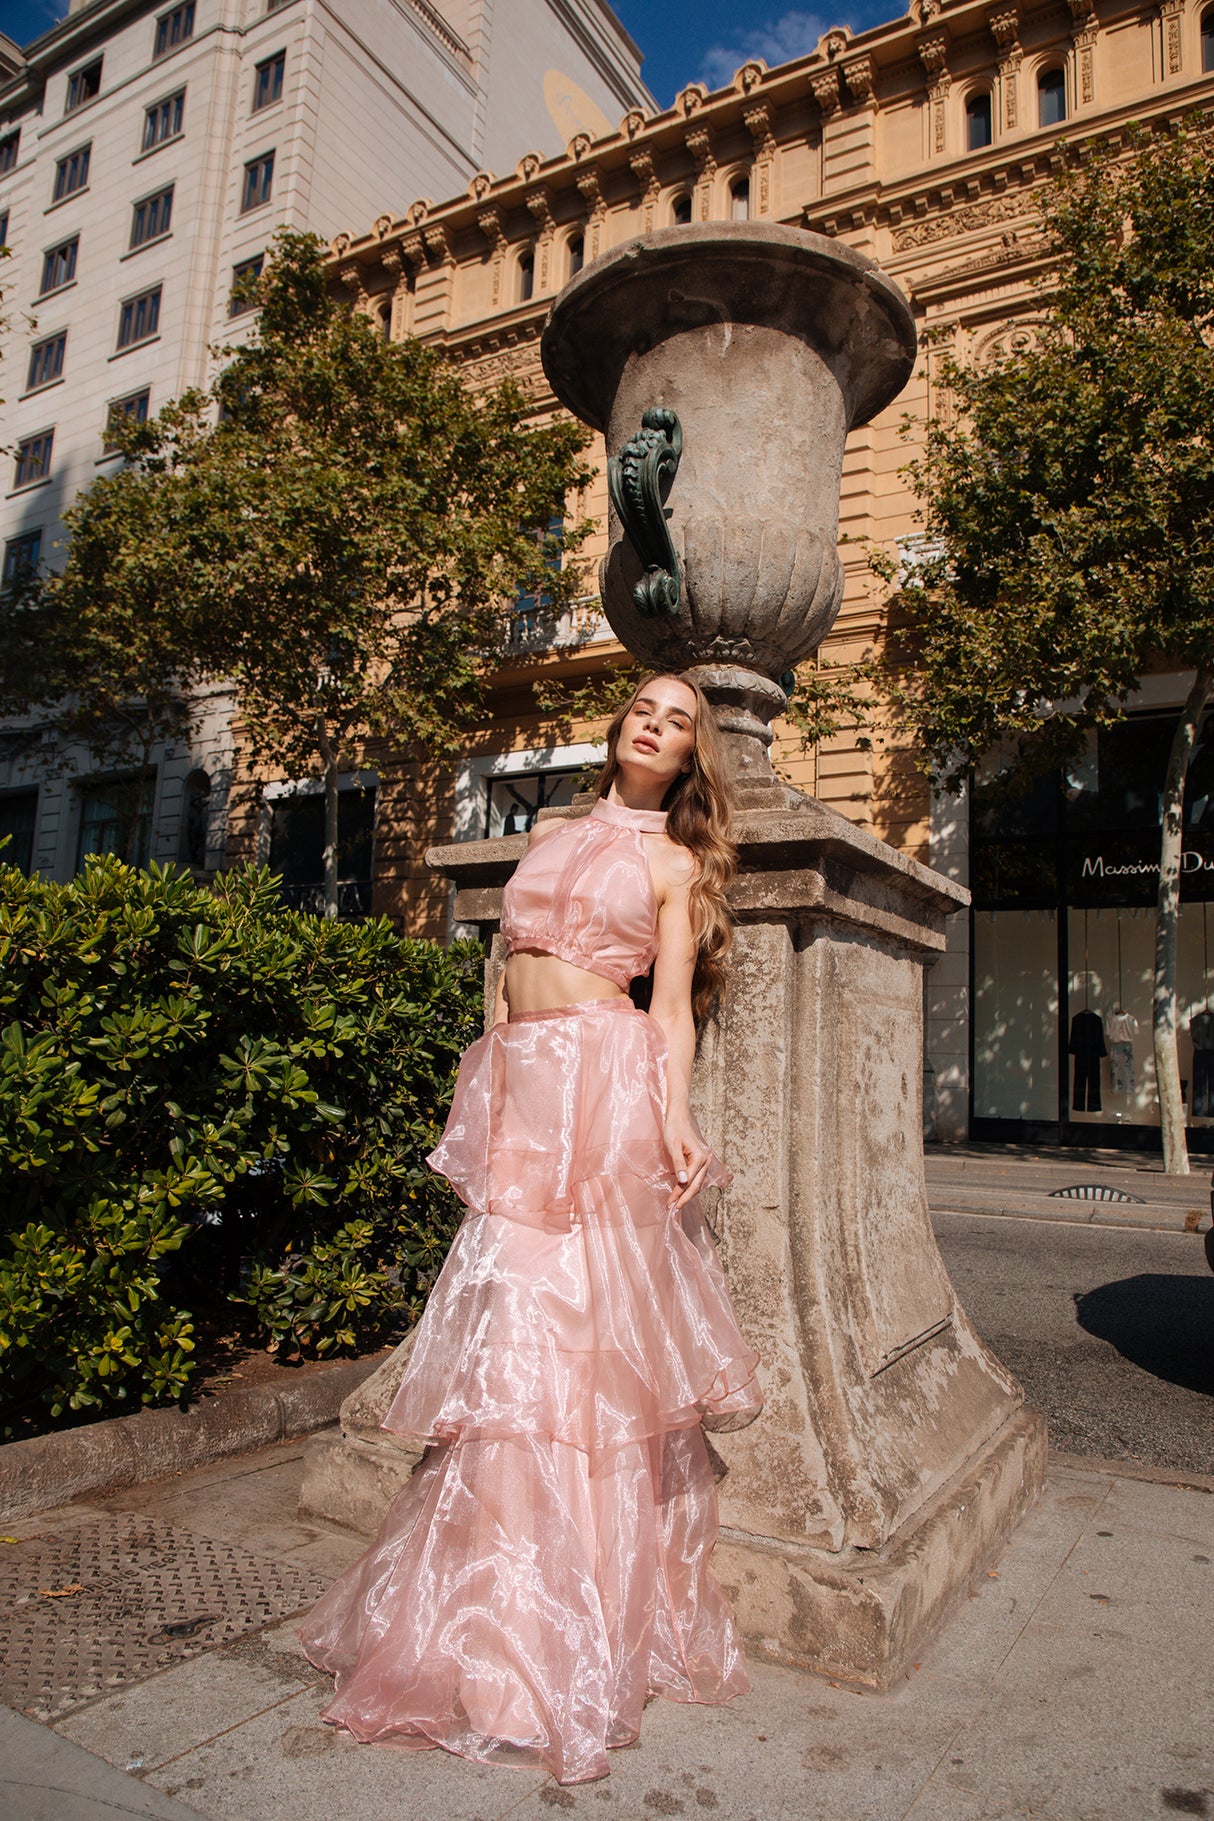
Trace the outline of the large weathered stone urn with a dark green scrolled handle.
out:
<instances>
[{"instance_id":1,"label":"large weathered stone urn with a dark green scrolled handle","mask_svg":"<svg viewBox=\"0 0 1214 1821\"><path fill-rule=\"evenodd\" d=\"M768 222L666 228L579 273L548 381L606 437L606 617L693 670L739 783L768 783L781 679L830 632L846 435L905 386L916 330L863 253Z\"/></svg>"}]
</instances>

